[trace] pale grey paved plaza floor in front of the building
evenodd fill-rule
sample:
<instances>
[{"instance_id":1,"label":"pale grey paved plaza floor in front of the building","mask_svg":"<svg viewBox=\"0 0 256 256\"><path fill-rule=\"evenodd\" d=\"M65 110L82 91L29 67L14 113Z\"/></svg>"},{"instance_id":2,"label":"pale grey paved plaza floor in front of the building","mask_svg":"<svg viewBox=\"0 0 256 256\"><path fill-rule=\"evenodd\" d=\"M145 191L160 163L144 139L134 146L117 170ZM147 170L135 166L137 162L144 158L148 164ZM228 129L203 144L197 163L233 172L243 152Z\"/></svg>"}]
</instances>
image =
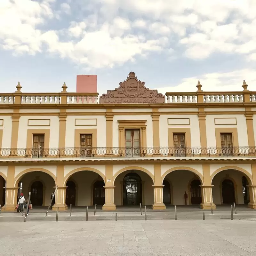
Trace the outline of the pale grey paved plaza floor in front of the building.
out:
<instances>
[{"instance_id":1,"label":"pale grey paved plaza floor in front of the building","mask_svg":"<svg viewBox=\"0 0 256 256\"><path fill-rule=\"evenodd\" d=\"M148 212L147 221L138 212L67 212L45 216L29 213L0 214L0 255L4 256L255 256L255 211Z\"/></svg>"}]
</instances>

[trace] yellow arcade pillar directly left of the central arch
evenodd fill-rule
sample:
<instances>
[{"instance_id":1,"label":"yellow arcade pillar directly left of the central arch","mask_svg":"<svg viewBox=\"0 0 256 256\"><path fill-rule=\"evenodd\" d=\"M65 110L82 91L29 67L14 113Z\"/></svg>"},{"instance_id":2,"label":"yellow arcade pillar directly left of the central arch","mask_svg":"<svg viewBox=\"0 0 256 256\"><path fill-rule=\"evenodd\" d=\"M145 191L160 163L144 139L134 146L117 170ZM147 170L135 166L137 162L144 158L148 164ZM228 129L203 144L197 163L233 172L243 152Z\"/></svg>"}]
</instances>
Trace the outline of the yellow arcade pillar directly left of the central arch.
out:
<instances>
[{"instance_id":1,"label":"yellow arcade pillar directly left of the central arch","mask_svg":"<svg viewBox=\"0 0 256 256\"><path fill-rule=\"evenodd\" d=\"M102 210L116 210L114 203L114 186L113 184L113 165L106 165L106 180L105 180L105 204L102 206Z\"/></svg>"}]
</instances>

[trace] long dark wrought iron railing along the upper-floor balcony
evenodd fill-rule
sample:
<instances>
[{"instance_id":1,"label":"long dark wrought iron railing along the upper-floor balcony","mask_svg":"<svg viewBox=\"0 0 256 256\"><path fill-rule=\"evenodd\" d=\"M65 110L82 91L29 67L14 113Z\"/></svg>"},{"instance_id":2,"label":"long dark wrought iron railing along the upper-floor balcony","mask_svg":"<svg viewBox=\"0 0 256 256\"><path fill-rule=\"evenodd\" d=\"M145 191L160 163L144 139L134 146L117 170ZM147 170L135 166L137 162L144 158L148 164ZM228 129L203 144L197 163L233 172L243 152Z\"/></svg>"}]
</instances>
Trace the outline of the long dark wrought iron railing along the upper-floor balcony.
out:
<instances>
[{"instance_id":1,"label":"long dark wrought iron railing along the upper-floor balcony","mask_svg":"<svg viewBox=\"0 0 256 256\"><path fill-rule=\"evenodd\" d=\"M256 147L0 148L0 158L256 157Z\"/></svg>"}]
</instances>

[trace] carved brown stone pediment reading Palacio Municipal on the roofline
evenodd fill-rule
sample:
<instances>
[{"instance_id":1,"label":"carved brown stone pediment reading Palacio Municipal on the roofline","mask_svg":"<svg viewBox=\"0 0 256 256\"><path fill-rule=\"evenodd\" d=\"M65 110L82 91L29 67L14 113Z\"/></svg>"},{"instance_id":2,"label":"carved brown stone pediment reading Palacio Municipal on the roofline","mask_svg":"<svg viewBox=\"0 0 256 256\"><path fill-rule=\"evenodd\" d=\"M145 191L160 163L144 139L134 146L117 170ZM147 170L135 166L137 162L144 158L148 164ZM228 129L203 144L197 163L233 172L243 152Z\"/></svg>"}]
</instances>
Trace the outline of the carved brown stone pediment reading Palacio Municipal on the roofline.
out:
<instances>
[{"instance_id":1,"label":"carved brown stone pediment reading Palacio Municipal on the roofline","mask_svg":"<svg viewBox=\"0 0 256 256\"><path fill-rule=\"evenodd\" d=\"M145 87L145 82L137 79L134 72L130 72L124 82L115 90L108 90L100 96L100 103L164 103L165 96Z\"/></svg>"}]
</instances>

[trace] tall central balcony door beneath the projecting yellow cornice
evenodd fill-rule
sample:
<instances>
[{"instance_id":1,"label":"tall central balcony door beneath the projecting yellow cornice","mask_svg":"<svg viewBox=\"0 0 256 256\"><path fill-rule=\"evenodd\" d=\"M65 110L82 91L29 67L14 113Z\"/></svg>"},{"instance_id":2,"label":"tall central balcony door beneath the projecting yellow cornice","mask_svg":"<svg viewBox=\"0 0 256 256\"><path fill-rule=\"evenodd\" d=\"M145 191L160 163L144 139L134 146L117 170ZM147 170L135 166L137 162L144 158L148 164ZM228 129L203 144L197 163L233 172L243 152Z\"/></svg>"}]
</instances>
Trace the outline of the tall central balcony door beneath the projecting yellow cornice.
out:
<instances>
[{"instance_id":1,"label":"tall central balcony door beneath the projecting yellow cornice","mask_svg":"<svg viewBox=\"0 0 256 256\"><path fill-rule=\"evenodd\" d=\"M125 155L140 156L140 130L125 130Z\"/></svg>"}]
</instances>

